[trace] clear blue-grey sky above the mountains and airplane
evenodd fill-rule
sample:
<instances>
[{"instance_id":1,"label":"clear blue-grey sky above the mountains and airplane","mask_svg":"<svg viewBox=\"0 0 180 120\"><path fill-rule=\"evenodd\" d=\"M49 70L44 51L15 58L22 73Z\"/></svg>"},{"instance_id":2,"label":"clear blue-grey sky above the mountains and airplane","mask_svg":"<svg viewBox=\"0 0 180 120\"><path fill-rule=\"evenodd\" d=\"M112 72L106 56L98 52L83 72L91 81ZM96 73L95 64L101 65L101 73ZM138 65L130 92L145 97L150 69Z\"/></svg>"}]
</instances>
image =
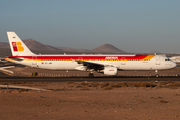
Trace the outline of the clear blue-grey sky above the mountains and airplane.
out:
<instances>
[{"instance_id":1,"label":"clear blue-grey sky above the mountains and airplane","mask_svg":"<svg viewBox=\"0 0 180 120\"><path fill-rule=\"evenodd\" d=\"M21 39L77 49L180 53L180 0L1 0L0 42Z\"/></svg>"}]
</instances>

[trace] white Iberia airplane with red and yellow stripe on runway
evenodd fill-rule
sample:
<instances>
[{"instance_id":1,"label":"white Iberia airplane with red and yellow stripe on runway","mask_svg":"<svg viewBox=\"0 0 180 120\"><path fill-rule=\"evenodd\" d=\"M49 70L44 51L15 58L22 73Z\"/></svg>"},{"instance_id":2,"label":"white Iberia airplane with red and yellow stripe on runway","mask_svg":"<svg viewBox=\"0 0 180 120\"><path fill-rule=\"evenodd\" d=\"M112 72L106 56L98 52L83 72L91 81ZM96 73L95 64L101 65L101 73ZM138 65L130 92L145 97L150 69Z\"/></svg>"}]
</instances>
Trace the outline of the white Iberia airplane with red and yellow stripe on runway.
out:
<instances>
[{"instance_id":1,"label":"white Iberia airplane with red and yellow stripe on runway","mask_svg":"<svg viewBox=\"0 0 180 120\"><path fill-rule=\"evenodd\" d=\"M168 57L156 54L34 54L15 32L7 32L7 36L12 56L5 57L5 60L34 68L87 71L89 72L89 77L94 77L94 71L109 76L116 76L118 71L121 70L155 70L158 77L158 70L167 70L176 67L176 63Z\"/></svg>"}]
</instances>

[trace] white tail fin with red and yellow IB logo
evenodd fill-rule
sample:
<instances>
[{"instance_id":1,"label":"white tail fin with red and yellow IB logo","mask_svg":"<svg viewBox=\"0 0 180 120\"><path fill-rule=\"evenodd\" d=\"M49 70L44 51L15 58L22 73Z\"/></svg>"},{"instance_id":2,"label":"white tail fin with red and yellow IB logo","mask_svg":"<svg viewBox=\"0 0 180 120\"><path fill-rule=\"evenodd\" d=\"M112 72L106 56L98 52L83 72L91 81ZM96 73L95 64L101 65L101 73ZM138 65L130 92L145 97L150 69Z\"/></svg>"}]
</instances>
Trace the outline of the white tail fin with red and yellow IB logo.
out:
<instances>
[{"instance_id":1,"label":"white tail fin with red and yellow IB logo","mask_svg":"<svg viewBox=\"0 0 180 120\"><path fill-rule=\"evenodd\" d=\"M16 35L15 32L7 32L9 44L13 56L22 55L35 55L29 48L22 42L22 40Z\"/></svg>"}]
</instances>

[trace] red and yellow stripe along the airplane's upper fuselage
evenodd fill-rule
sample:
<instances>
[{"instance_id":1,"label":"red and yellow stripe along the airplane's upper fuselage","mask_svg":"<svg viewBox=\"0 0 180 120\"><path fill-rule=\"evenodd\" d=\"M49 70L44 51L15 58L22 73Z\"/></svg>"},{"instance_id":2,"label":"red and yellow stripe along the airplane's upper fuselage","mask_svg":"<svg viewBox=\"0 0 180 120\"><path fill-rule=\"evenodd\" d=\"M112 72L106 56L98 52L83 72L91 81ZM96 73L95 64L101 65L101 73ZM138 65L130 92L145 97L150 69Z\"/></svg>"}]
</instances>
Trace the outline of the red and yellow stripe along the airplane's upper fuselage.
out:
<instances>
[{"instance_id":1,"label":"red and yellow stripe along the airplane's upper fuselage","mask_svg":"<svg viewBox=\"0 0 180 120\"><path fill-rule=\"evenodd\" d=\"M155 55L135 55L135 56L11 56L11 58L24 58L24 61L148 61ZM5 58L7 61L15 61Z\"/></svg>"}]
</instances>

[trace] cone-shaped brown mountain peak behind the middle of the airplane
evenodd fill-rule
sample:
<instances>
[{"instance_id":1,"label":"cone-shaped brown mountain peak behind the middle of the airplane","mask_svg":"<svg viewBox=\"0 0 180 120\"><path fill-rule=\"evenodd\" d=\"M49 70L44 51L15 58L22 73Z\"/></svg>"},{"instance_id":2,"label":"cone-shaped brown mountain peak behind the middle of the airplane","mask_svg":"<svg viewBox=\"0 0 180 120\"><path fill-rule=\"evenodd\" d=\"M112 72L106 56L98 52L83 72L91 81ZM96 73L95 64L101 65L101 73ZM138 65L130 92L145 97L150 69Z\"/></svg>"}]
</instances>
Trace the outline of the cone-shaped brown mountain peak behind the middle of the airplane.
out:
<instances>
[{"instance_id":1,"label":"cone-shaped brown mountain peak behind the middle of the airplane","mask_svg":"<svg viewBox=\"0 0 180 120\"><path fill-rule=\"evenodd\" d=\"M104 44L91 50L93 53L125 53L111 44Z\"/></svg>"}]
</instances>

